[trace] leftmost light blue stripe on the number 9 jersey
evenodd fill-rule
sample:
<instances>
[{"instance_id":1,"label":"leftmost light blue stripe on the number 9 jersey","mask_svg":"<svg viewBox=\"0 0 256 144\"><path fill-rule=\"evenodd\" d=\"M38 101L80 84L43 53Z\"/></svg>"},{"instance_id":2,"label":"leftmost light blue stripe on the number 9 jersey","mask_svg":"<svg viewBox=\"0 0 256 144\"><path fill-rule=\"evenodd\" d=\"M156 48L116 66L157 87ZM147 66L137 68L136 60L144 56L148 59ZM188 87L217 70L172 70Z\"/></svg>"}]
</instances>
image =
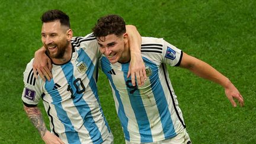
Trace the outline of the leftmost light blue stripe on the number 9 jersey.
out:
<instances>
[{"instance_id":1,"label":"leftmost light blue stripe on the number 9 jersey","mask_svg":"<svg viewBox=\"0 0 256 144\"><path fill-rule=\"evenodd\" d=\"M119 102L119 110L118 110L117 116L119 117L120 122L121 122L121 125L122 125L122 127L123 127L123 132L124 132L124 137L125 137L125 139L128 140L128 141L130 141L130 135L129 135L129 131L128 131L128 129L127 129L127 126L128 126L128 118L126 117L126 114L125 114L125 112L124 112L123 103L122 103L122 101L121 101L120 94L119 94L119 92L117 91L116 86L114 85L112 76L110 75L110 73L107 73L108 71L111 70L111 66L110 66L110 62L108 61L108 59L107 59L106 57L103 57L103 58L101 59L101 69L102 69L102 71L105 73L105 75L107 75L108 80L111 82L111 86L112 86L113 89L114 89L114 92L115 92L115 94L116 94L117 101Z\"/></svg>"}]
</instances>

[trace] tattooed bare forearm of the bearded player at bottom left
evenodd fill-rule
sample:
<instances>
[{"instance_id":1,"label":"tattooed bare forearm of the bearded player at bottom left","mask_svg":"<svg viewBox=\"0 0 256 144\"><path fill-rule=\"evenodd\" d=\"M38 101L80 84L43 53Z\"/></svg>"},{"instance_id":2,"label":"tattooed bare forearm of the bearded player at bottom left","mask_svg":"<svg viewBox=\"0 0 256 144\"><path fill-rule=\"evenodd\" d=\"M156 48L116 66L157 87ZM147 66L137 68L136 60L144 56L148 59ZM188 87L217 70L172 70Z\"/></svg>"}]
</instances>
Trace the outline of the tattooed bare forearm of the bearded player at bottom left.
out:
<instances>
[{"instance_id":1,"label":"tattooed bare forearm of the bearded player at bottom left","mask_svg":"<svg viewBox=\"0 0 256 144\"><path fill-rule=\"evenodd\" d=\"M28 118L33 123L33 125L37 128L40 133L41 138L45 143L64 143L60 140L59 137L53 135L47 130L46 125L43 121L43 116L38 107L26 107L23 105L25 113L27 113Z\"/></svg>"}]
</instances>

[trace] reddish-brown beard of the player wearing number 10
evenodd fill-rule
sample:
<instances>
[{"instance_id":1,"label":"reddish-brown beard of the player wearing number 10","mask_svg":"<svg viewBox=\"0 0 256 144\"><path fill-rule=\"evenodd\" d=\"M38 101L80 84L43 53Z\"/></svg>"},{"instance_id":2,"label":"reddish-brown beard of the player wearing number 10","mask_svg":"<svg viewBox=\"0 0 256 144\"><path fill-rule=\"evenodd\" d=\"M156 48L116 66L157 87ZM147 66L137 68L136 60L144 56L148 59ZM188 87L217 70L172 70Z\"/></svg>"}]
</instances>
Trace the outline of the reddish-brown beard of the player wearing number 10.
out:
<instances>
[{"instance_id":1,"label":"reddish-brown beard of the player wearing number 10","mask_svg":"<svg viewBox=\"0 0 256 144\"><path fill-rule=\"evenodd\" d=\"M50 45L53 45L53 44L49 44L48 46L50 46ZM53 59L62 59L63 56L64 56L64 54L65 54L65 52L66 52L66 49L67 49L67 47L68 47L68 45L69 45L69 41L66 41L65 44L54 44L54 45L56 45L56 48L55 48L55 49L57 49L57 50L56 50L56 53L51 53L51 52L49 51L48 46L44 44L44 47L46 47L46 53L47 53L47 55L48 55L50 58L53 58Z\"/></svg>"}]
</instances>

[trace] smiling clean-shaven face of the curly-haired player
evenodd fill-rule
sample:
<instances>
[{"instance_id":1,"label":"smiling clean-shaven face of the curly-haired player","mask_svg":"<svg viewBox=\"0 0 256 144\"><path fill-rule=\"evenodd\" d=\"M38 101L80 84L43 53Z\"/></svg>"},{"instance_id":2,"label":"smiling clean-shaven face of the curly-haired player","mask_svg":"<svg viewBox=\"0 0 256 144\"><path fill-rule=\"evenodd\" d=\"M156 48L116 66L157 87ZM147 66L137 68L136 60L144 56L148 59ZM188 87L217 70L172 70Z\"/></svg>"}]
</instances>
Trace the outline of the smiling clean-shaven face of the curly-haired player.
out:
<instances>
[{"instance_id":1,"label":"smiling clean-shaven face of the curly-haired player","mask_svg":"<svg viewBox=\"0 0 256 144\"><path fill-rule=\"evenodd\" d=\"M128 47L128 35L124 33L121 36L108 34L105 37L97 39L100 46L100 52L107 57L110 63L129 62L130 51Z\"/></svg>"}]
</instances>

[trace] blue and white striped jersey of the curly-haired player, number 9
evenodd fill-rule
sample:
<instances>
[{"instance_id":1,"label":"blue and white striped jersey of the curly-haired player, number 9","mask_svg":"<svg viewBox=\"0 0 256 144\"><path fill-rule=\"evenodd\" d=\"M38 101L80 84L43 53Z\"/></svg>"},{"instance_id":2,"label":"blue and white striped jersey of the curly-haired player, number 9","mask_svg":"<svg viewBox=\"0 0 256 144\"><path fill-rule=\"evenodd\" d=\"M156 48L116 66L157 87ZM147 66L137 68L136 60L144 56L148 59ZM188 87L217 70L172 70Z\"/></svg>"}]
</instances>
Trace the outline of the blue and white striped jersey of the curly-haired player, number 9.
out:
<instances>
[{"instance_id":1,"label":"blue and white striped jersey of the curly-haired player, number 9","mask_svg":"<svg viewBox=\"0 0 256 144\"><path fill-rule=\"evenodd\" d=\"M180 65L183 52L163 39L152 37L142 37L141 52L149 77L142 87L133 87L127 78L129 62L111 64L103 56L100 66L110 82L125 139L134 143L170 139L185 124L167 65Z\"/></svg>"}]
</instances>

